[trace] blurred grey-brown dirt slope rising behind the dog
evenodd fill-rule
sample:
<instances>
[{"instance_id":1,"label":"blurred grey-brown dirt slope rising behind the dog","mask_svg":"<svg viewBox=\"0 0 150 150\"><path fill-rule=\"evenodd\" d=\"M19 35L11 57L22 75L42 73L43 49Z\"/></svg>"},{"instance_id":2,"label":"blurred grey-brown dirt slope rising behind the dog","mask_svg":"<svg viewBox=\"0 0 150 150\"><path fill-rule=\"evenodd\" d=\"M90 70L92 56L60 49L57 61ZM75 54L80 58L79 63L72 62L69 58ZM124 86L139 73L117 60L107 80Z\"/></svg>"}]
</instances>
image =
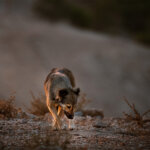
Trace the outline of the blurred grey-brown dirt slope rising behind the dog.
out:
<instances>
[{"instance_id":1,"label":"blurred grey-brown dirt slope rising behind the dog","mask_svg":"<svg viewBox=\"0 0 150 150\"><path fill-rule=\"evenodd\" d=\"M49 71L66 67L91 99L89 107L102 108L109 116L118 115L126 110L122 103L126 96L141 112L149 108L147 48L65 23L44 22L20 13L20 9L0 15L1 97L16 91L17 105L28 106L30 90L35 95L44 93L43 82Z\"/></svg>"}]
</instances>

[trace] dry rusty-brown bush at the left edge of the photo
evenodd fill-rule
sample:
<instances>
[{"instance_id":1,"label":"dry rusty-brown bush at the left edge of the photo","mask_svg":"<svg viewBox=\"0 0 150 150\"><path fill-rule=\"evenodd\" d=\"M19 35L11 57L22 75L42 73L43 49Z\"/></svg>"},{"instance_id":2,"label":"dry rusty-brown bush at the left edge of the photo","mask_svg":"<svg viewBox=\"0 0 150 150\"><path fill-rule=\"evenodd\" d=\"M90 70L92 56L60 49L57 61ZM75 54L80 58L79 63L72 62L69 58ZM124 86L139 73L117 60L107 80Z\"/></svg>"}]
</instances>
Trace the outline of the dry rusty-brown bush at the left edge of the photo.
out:
<instances>
[{"instance_id":1,"label":"dry rusty-brown bush at the left edge of the photo","mask_svg":"<svg viewBox=\"0 0 150 150\"><path fill-rule=\"evenodd\" d=\"M11 95L7 100L0 100L0 118L15 118L18 109L14 106L15 96Z\"/></svg>"}]
</instances>

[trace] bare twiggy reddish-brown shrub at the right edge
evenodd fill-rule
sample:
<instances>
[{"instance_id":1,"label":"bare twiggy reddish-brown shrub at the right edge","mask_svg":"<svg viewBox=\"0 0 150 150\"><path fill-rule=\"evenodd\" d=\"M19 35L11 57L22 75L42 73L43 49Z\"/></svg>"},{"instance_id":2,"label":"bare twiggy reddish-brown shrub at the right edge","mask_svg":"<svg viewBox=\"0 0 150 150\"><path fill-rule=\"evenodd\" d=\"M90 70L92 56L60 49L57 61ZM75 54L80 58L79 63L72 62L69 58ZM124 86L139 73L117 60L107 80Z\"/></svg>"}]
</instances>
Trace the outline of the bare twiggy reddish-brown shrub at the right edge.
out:
<instances>
[{"instance_id":1,"label":"bare twiggy reddish-brown shrub at the right edge","mask_svg":"<svg viewBox=\"0 0 150 150\"><path fill-rule=\"evenodd\" d=\"M139 127L143 127L143 125L147 122L150 122L150 119L144 119L145 116L150 113L150 110L145 111L143 114L140 114L138 110L135 108L134 104L130 104L128 100L124 97L124 101L132 110L132 114L124 113L126 121L134 121Z\"/></svg>"}]
</instances>

